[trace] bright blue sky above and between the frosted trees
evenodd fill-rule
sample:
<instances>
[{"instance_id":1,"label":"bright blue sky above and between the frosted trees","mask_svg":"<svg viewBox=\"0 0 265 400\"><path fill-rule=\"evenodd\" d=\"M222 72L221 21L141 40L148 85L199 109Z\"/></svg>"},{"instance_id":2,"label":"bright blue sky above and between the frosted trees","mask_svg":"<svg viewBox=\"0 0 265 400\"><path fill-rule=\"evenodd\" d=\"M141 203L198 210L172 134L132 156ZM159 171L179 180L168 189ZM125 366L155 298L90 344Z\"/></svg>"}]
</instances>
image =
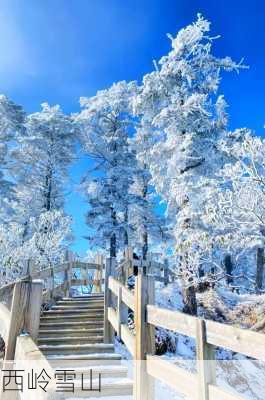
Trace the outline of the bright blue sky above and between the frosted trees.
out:
<instances>
[{"instance_id":1,"label":"bright blue sky above and between the frosted trees","mask_svg":"<svg viewBox=\"0 0 265 400\"><path fill-rule=\"evenodd\" d=\"M28 112L40 103L77 111L80 96L119 80L141 80L152 60L168 52L175 34L201 12L221 39L215 54L245 58L249 70L224 75L231 128L263 134L265 124L265 2L262 0L0 0L0 92ZM86 169L71 170L73 186ZM86 206L67 198L75 218L74 249L85 253Z\"/></svg>"}]
</instances>

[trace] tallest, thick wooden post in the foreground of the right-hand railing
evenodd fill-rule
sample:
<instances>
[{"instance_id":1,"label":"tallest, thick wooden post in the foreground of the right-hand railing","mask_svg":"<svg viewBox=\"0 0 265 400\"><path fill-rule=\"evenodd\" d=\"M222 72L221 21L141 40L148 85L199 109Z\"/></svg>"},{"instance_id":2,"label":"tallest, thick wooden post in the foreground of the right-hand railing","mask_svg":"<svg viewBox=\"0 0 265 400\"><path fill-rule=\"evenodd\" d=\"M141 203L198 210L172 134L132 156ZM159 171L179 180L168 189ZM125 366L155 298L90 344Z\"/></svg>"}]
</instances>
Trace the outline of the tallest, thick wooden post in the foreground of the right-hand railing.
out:
<instances>
[{"instance_id":1,"label":"tallest, thick wooden post in the foreground of the right-hand railing","mask_svg":"<svg viewBox=\"0 0 265 400\"><path fill-rule=\"evenodd\" d=\"M153 353L155 345L154 329L146 322L146 306L153 302L153 277L139 274L135 283L134 400L154 398L154 382L146 371L146 354L147 352Z\"/></svg>"}]
</instances>

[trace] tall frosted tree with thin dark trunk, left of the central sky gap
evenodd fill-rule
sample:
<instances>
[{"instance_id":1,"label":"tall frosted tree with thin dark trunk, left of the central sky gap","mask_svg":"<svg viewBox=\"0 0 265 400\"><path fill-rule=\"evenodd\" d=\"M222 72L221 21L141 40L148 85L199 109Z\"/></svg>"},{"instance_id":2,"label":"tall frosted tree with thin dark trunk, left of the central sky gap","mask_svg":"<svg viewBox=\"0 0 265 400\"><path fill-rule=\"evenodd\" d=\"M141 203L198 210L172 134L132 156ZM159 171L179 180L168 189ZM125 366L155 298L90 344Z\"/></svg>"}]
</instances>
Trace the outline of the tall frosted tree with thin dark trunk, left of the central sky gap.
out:
<instances>
[{"instance_id":1,"label":"tall frosted tree with thin dark trunk, left of the central sky gap","mask_svg":"<svg viewBox=\"0 0 265 400\"><path fill-rule=\"evenodd\" d=\"M47 103L40 112L27 116L25 129L12 156L17 221L24 224L27 234L30 217L62 209L77 137L71 117Z\"/></svg>"}]
</instances>

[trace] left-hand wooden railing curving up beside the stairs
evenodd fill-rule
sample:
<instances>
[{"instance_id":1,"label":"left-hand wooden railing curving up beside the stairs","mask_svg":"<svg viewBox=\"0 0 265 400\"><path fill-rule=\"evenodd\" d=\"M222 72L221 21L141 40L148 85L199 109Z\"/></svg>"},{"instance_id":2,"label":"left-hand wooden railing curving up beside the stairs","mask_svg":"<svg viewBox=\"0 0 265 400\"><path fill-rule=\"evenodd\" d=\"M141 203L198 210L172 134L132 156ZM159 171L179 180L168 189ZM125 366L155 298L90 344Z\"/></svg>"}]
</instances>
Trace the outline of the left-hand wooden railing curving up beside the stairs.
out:
<instances>
[{"instance_id":1,"label":"left-hand wooden railing curving up beside the stairs","mask_svg":"<svg viewBox=\"0 0 265 400\"><path fill-rule=\"evenodd\" d=\"M14 360L17 337L27 332L38 336L42 304L69 296L71 288L90 285L102 290L103 258L95 263L67 261L41 271L28 268L28 275L0 288L0 335L5 342L5 360Z\"/></svg>"}]
</instances>

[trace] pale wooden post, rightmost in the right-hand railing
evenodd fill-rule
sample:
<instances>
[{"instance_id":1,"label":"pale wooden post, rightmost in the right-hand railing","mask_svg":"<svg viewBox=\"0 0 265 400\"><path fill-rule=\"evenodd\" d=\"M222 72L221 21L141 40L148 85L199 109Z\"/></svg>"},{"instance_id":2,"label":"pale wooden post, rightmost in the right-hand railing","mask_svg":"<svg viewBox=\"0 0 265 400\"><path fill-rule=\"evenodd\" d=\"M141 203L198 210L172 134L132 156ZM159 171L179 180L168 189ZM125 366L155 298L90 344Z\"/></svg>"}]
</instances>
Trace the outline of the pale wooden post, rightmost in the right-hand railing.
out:
<instances>
[{"instance_id":1,"label":"pale wooden post, rightmost in the right-hand railing","mask_svg":"<svg viewBox=\"0 0 265 400\"><path fill-rule=\"evenodd\" d=\"M196 351L199 383L198 400L209 400L208 385L216 382L215 349L206 341L206 326L202 319L197 319Z\"/></svg>"}]
</instances>

